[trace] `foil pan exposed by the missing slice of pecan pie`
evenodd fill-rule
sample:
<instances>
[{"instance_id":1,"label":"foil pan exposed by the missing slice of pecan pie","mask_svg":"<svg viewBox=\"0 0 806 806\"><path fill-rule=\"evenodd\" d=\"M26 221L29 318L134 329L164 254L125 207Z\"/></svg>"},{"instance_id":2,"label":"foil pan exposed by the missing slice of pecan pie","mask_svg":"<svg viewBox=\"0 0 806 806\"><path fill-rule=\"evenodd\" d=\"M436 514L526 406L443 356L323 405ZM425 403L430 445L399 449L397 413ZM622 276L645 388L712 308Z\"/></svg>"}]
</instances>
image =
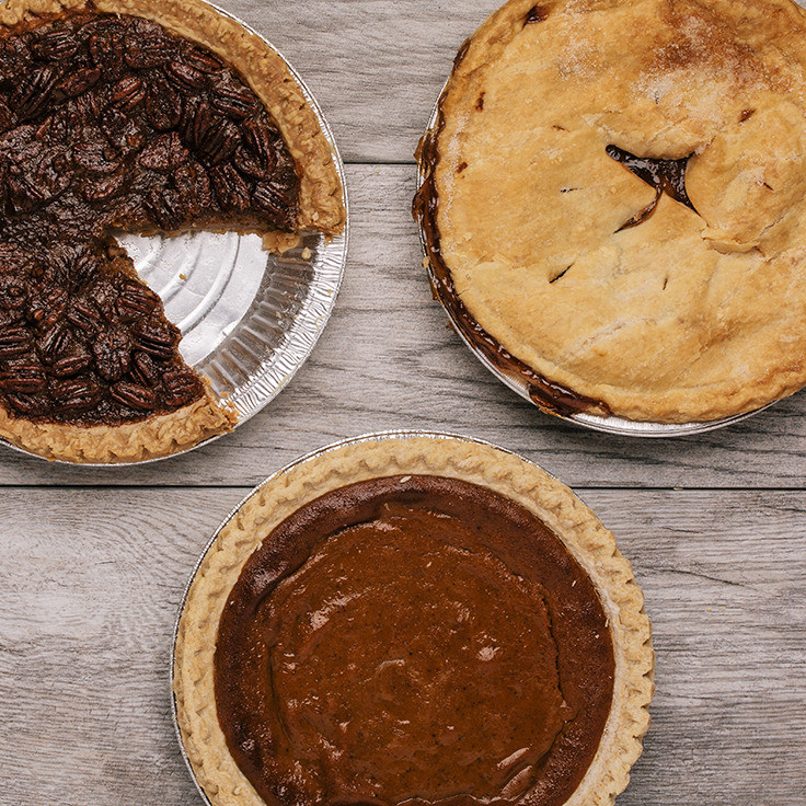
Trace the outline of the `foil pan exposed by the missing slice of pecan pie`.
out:
<instances>
[{"instance_id":1,"label":"foil pan exposed by the missing slice of pecan pie","mask_svg":"<svg viewBox=\"0 0 806 806\"><path fill-rule=\"evenodd\" d=\"M331 148L346 212L341 234L307 234L299 245L281 255L263 250L256 234L203 231L173 238L117 235L138 275L160 295L168 318L182 331L183 358L233 405L238 428L283 391L324 330L347 262L349 207L344 163L333 131L308 85L264 36L228 11L210 5L261 36L284 60ZM166 457L136 462L48 461L84 468L148 464L188 453L221 436L215 435ZM2 437L0 445L45 459Z\"/></svg>"}]
</instances>

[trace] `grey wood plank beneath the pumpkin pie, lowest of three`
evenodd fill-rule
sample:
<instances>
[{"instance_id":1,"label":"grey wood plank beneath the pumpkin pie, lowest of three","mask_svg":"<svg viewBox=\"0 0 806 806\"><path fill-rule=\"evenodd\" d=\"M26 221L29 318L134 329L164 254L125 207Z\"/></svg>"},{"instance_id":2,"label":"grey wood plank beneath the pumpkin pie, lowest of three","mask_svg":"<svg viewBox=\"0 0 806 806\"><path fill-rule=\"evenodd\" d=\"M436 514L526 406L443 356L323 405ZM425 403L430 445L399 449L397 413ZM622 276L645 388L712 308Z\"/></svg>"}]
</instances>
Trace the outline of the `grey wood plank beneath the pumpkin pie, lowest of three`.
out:
<instances>
[{"instance_id":1,"label":"grey wood plank beneath the pumpkin pie, lowest of three","mask_svg":"<svg viewBox=\"0 0 806 806\"><path fill-rule=\"evenodd\" d=\"M196 556L244 492L2 492L3 803L198 803L169 717L169 648ZM654 622L654 722L622 806L802 806L803 494L582 496Z\"/></svg>"}]
</instances>

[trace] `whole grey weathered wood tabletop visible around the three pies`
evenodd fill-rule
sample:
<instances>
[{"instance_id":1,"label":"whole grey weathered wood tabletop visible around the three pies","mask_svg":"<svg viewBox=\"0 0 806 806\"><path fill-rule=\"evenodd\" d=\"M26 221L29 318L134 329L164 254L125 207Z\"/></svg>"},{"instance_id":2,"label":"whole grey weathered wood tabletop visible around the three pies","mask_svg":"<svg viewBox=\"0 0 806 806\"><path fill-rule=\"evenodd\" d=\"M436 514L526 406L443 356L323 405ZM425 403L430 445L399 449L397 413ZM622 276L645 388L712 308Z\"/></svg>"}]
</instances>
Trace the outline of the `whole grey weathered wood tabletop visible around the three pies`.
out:
<instances>
[{"instance_id":1,"label":"whole grey weathered wood tabletop visible around the three pies","mask_svg":"<svg viewBox=\"0 0 806 806\"><path fill-rule=\"evenodd\" d=\"M621 806L806 803L806 394L673 440L540 414L447 329L421 265L412 152L498 0L221 0L301 72L347 163L352 245L321 342L258 416L175 460L94 471L0 451L0 804L200 803L176 746L176 608L268 473L366 431L450 430L539 462L646 592L657 694Z\"/></svg>"}]
</instances>

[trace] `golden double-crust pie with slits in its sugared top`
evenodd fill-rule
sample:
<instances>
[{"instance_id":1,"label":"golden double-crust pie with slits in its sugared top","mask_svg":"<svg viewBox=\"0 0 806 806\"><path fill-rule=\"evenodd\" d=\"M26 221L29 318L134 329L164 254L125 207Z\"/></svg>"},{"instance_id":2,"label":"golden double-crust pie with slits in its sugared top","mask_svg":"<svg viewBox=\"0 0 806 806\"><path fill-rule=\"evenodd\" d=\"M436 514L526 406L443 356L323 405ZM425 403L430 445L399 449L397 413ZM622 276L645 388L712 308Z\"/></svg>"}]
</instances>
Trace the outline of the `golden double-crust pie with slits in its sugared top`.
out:
<instances>
[{"instance_id":1,"label":"golden double-crust pie with slits in its sugared top","mask_svg":"<svg viewBox=\"0 0 806 806\"><path fill-rule=\"evenodd\" d=\"M711 421L802 388L805 76L790 0L507 2L419 152L463 335L565 414Z\"/></svg>"}]
</instances>

